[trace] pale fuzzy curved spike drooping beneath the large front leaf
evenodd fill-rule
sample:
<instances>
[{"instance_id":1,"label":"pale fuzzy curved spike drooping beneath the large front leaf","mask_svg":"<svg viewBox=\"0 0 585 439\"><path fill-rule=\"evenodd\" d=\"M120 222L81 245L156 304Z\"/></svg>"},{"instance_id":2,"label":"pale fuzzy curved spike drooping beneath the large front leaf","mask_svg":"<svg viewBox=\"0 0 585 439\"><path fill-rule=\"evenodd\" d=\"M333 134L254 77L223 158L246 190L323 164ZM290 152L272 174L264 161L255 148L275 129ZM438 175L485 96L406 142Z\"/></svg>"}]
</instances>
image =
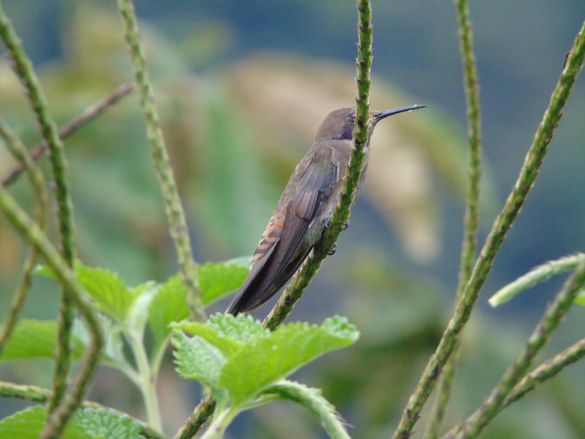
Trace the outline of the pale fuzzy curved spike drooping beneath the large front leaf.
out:
<instances>
[{"instance_id":1,"label":"pale fuzzy curved spike drooping beneath the large front leaf","mask_svg":"<svg viewBox=\"0 0 585 439\"><path fill-rule=\"evenodd\" d=\"M345 423L335 411L335 406L326 400L321 389L307 387L289 380L280 380L268 387L264 393L278 395L282 399L300 404L319 420L329 437L334 439L349 439Z\"/></svg>"}]
</instances>

